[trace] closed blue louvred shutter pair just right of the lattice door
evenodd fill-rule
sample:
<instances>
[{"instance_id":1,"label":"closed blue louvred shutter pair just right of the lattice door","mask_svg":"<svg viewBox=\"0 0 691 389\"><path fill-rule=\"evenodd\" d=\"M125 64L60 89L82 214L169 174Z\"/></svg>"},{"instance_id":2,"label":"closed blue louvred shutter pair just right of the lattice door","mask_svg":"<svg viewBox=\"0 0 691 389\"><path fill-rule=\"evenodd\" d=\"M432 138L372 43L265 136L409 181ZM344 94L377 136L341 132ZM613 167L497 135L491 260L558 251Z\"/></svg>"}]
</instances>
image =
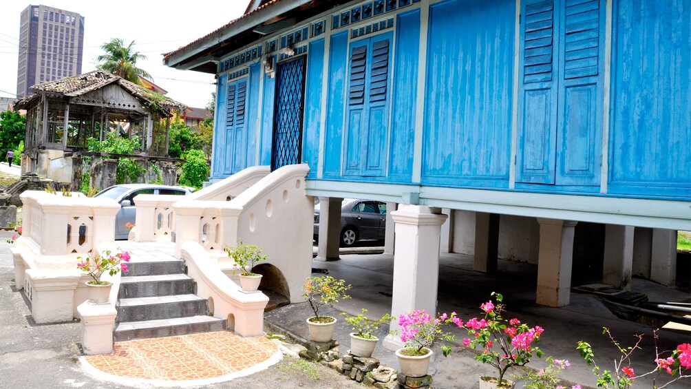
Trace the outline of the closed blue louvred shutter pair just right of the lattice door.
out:
<instances>
[{"instance_id":1,"label":"closed blue louvred shutter pair just right of the lattice door","mask_svg":"<svg viewBox=\"0 0 691 389\"><path fill-rule=\"evenodd\" d=\"M350 46L344 175L386 173L390 34Z\"/></svg>"}]
</instances>

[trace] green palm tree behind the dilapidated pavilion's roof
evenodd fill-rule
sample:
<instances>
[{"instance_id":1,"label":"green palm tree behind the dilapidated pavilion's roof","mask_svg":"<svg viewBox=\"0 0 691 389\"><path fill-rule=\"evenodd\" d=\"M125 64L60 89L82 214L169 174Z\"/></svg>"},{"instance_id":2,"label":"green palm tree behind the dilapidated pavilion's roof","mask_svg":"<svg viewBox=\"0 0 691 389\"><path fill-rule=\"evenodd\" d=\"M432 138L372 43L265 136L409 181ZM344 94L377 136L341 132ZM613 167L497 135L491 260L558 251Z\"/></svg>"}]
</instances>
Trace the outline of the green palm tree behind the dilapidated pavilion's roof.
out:
<instances>
[{"instance_id":1,"label":"green palm tree behind the dilapidated pavilion's roof","mask_svg":"<svg viewBox=\"0 0 691 389\"><path fill-rule=\"evenodd\" d=\"M146 73L146 70L136 66L138 60L146 59L146 55L136 53L133 46L134 41L131 41L128 46L124 46L122 39L111 39L101 46L106 54L96 57L96 61L103 62L97 67L135 84L142 84L140 77L151 78L151 75Z\"/></svg>"}]
</instances>

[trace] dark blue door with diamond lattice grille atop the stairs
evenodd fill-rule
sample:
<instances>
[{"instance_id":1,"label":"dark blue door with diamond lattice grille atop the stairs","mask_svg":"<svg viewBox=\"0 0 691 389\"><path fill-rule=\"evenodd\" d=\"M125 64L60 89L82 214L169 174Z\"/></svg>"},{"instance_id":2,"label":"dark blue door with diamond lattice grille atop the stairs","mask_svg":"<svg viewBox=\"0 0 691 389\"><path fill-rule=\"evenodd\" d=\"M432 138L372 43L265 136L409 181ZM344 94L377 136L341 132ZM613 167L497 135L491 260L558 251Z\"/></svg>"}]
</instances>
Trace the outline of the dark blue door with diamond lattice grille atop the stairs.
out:
<instances>
[{"instance_id":1,"label":"dark blue door with diamond lattice grille atop the stairs","mask_svg":"<svg viewBox=\"0 0 691 389\"><path fill-rule=\"evenodd\" d=\"M302 158L305 56L278 64L272 169L299 164Z\"/></svg>"}]
</instances>

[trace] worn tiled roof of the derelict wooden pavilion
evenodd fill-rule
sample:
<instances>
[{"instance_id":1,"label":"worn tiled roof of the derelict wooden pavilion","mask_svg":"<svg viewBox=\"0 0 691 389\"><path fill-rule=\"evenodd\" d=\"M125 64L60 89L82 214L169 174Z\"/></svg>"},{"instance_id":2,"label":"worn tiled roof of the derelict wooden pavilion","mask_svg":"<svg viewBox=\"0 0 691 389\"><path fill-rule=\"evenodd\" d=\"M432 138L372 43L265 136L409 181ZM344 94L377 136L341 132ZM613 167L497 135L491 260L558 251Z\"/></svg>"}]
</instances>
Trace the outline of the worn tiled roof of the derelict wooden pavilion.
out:
<instances>
[{"instance_id":1,"label":"worn tiled roof of the derelict wooden pavilion","mask_svg":"<svg viewBox=\"0 0 691 389\"><path fill-rule=\"evenodd\" d=\"M51 82L36 84L31 87L31 90L35 91L36 93L23 97L17 102L16 106L23 108L26 106L26 104L32 102L33 99L39 98L39 92L57 93L66 97L75 97L95 91L113 83L119 85L137 99L140 99L140 101L151 102L151 91L143 86L129 82L120 76L108 73L104 70L94 70L93 72L84 73L83 75L65 77ZM170 97L165 97L163 95L161 95L159 104L168 109L176 109L180 111L187 109L186 105L176 102Z\"/></svg>"}]
</instances>

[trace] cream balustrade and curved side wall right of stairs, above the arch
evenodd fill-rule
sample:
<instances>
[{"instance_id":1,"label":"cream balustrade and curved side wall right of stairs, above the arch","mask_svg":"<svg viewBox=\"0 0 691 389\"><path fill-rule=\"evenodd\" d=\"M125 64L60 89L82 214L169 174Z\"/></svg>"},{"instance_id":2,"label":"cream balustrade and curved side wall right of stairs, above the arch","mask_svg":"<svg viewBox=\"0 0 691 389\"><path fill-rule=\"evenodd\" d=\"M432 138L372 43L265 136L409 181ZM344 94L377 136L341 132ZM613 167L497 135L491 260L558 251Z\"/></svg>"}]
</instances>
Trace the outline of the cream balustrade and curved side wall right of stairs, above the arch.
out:
<instances>
[{"instance_id":1,"label":"cream balustrade and curved side wall right of stairs, above the arch","mask_svg":"<svg viewBox=\"0 0 691 389\"><path fill-rule=\"evenodd\" d=\"M176 202L176 256L192 241L224 267L229 266L224 247L240 240L257 245L285 278L290 301L301 301L301 287L312 270L314 200L305 193L309 170L307 164L281 167L230 201Z\"/></svg>"}]
</instances>

